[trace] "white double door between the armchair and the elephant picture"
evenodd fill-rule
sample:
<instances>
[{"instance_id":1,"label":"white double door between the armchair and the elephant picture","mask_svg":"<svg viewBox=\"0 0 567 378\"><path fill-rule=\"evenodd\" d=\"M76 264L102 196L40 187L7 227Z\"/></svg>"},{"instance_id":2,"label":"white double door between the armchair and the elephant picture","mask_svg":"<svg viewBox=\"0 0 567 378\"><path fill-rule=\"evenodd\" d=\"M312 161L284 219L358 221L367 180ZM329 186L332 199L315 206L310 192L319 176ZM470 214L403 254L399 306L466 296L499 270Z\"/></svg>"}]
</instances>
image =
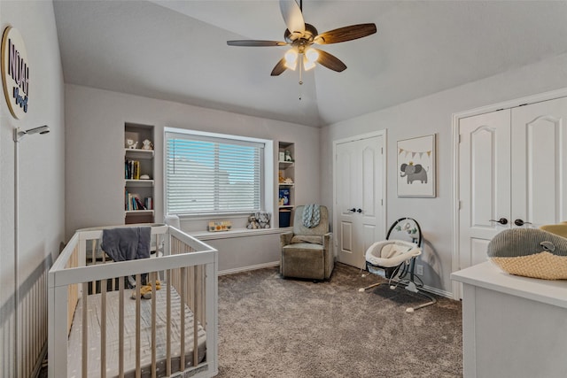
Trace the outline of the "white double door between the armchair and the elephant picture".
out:
<instances>
[{"instance_id":1,"label":"white double door between the armchair and the elephant picture","mask_svg":"<svg viewBox=\"0 0 567 378\"><path fill-rule=\"evenodd\" d=\"M338 224L333 236L338 261L365 265L364 252L384 239L383 136L338 143L335 157L335 212Z\"/></svg>"}]
</instances>

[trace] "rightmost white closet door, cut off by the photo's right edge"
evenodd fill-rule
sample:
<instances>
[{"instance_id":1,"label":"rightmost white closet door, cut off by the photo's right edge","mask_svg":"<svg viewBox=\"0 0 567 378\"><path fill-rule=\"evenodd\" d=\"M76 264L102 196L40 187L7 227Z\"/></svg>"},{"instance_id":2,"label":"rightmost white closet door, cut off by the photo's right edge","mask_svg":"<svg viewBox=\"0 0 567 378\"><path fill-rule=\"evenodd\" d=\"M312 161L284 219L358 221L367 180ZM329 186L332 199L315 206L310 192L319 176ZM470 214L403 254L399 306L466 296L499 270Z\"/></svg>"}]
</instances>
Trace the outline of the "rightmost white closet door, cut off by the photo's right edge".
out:
<instances>
[{"instance_id":1,"label":"rightmost white closet door, cut off by the photo's right edge","mask_svg":"<svg viewBox=\"0 0 567 378\"><path fill-rule=\"evenodd\" d=\"M567 220L567 98L512 109L511 220Z\"/></svg>"}]
</instances>

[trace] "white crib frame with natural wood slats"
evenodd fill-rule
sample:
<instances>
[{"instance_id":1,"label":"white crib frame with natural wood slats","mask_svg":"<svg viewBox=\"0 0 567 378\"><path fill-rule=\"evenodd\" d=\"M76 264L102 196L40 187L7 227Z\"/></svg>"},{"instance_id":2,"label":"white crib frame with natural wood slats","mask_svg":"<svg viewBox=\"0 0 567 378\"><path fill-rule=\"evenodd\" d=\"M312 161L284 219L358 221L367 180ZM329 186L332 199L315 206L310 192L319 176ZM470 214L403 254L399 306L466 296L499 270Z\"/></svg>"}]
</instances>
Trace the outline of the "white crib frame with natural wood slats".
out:
<instances>
[{"instance_id":1,"label":"white crib frame with natural wood slats","mask_svg":"<svg viewBox=\"0 0 567 378\"><path fill-rule=\"evenodd\" d=\"M186 235L175 228L167 226L158 226L151 228L152 235L156 235L158 243L163 245L163 253L159 256L139 260L130 260L123 262L114 262L105 257L102 261L92 262L90 265L85 263L88 261L87 248L90 245L89 254L92 252L94 260L94 250L97 248L102 237L102 229L89 229L76 233L71 241L67 243L64 251L61 252L58 260L53 264L49 273L49 374L50 376L67 376L67 337L73 326L74 319L81 318L81 369L79 376L86 377L89 370L89 360L98 359L100 368L99 375L105 377L105 371L108 364L108 353L106 350L106 336L109 332L107 328L107 312L109 305L107 297L109 291L118 292L120 299L118 309L111 311L118 312L118 366L112 369L118 369L118 376L124 376L125 372L124 360L125 351L123 347L125 326L124 314L124 298L129 297L134 292L136 298L136 372L135 376L141 376L141 340L140 320L141 305L151 305L151 376L156 376L158 367L158 356L156 355L156 345L158 344L157 329L166 329L166 346L167 356L165 366L167 376L185 371L185 338L193 337L192 341L192 357L190 361L198 361L199 356L199 337L198 329L201 327L205 330L206 337L206 353L205 360L200 363L196 377L213 376L218 369L217 362L217 277L218 277L218 261L217 251L214 248L199 242L197 239ZM95 242L97 241L97 242ZM90 244L89 244L90 243ZM161 315L158 317L157 295L153 295L151 299L143 299L141 297L140 288L142 286L141 276L148 274L149 283L152 293L157 291L157 283L160 283L163 294L166 299L166 320L165 325ZM133 276L136 279L136 289L127 289L125 276ZM112 282L112 284L111 284ZM181 301L180 317L175 320L172 317L171 300L172 293ZM89 297L88 294L98 293L99 315L97 322L100 324L100 336L93 335L89 332ZM114 297L116 298L116 297ZM114 299L116 300L116 299ZM126 300L129 300L126 299ZM148 302L149 301L149 302ZM82 312L76 312L79 305L82 305ZM129 304L128 304L129 305ZM185 324L185 305L192 312L189 323ZM63 308L65 307L65 308ZM147 306L145 307L147 309ZM146 310L147 311L147 310ZM189 310L187 310L189 311ZM61 315L66 313L65 319ZM190 313L190 312L187 312ZM146 315L144 315L146 316ZM179 315L175 315L179 316ZM190 315L189 315L190 316ZM181 321L180 335L181 342L178 342L179 351L172 347L172 320ZM61 333L61 329L65 329L65 334ZM74 327L76 328L76 327ZM177 329L177 328L175 328ZM75 329L74 329L74 332ZM203 332L201 330L200 332ZM76 335L76 334L75 334ZM100 345L99 355L93 356L89 338L99 337ZM144 336L145 337L145 336ZM202 346L200 347L201 356L203 355ZM177 356L177 357L175 357ZM175 364L174 364L175 359ZM98 362L97 362L98 363ZM90 363L92 368L92 363ZM177 367L179 366L179 370ZM206 367L203 369L203 367ZM192 369L196 368L195 366ZM191 376L193 376L191 374Z\"/></svg>"}]
</instances>

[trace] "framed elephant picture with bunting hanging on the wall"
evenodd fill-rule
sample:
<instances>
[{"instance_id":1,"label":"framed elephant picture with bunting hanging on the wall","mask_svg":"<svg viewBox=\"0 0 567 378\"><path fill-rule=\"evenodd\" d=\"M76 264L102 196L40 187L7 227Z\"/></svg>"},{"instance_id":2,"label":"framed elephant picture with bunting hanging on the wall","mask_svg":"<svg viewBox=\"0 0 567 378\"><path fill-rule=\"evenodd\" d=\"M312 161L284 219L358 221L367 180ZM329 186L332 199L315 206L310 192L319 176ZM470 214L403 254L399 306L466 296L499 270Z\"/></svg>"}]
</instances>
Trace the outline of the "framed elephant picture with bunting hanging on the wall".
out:
<instances>
[{"instance_id":1,"label":"framed elephant picture with bunting hanging on the wall","mask_svg":"<svg viewBox=\"0 0 567 378\"><path fill-rule=\"evenodd\" d=\"M435 197L435 135L398 141L398 197Z\"/></svg>"}]
</instances>

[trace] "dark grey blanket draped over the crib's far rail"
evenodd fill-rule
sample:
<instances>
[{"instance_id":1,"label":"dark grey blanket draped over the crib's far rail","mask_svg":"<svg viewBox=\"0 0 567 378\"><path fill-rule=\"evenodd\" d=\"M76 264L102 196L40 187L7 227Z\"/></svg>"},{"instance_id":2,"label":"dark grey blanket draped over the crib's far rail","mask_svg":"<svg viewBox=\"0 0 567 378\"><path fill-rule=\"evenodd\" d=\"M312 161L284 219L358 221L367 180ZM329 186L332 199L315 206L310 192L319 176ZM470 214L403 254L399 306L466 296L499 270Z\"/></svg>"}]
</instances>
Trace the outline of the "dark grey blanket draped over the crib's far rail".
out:
<instances>
[{"instance_id":1,"label":"dark grey blanket draped over the crib's far rail","mask_svg":"<svg viewBox=\"0 0 567 378\"><path fill-rule=\"evenodd\" d=\"M111 228L103 230L101 248L114 261L150 257L151 228Z\"/></svg>"}]
</instances>

